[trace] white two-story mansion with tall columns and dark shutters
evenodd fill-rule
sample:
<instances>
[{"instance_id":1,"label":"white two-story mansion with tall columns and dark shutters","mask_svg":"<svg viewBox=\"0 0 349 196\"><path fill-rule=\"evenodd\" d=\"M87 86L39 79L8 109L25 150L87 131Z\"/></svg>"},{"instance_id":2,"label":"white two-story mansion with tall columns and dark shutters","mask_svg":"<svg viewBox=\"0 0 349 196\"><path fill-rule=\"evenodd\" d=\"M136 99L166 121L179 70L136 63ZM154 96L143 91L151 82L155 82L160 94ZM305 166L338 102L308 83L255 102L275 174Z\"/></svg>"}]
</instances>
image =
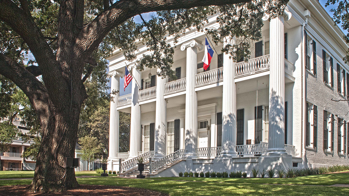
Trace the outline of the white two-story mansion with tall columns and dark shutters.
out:
<instances>
[{"instance_id":1,"label":"white two-story mansion with tall columns and dark shutters","mask_svg":"<svg viewBox=\"0 0 349 196\"><path fill-rule=\"evenodd\" d=\"M215 18L208 28L218 27ZM290 0L283 15L263 19L248 62L234 62L218 45L207 71L206 35L187 31L174 52L175 81L154 68L141 72L114 51L111 90L122 90L125 63L134 78L132 93L111 101L108 169L134 175L138 157L148 176L348 165L349 107L333 101L349 94L342 31L317 0ZM139 44L138 58L146 53ZM118 152L120 111L131 113L128 153Z\"/></svg>"}]
</instances>

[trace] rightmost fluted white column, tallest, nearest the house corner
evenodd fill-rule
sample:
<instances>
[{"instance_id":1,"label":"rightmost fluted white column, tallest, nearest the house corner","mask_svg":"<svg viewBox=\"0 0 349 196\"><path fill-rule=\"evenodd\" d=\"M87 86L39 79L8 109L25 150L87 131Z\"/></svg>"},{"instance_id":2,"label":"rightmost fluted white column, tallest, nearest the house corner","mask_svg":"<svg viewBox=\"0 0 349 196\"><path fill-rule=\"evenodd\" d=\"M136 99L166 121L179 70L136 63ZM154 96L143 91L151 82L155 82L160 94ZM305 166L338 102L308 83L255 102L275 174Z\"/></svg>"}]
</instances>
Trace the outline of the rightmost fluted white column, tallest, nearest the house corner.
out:
<instances>
[{"instance_id":1,"label":"rightmost fluted white column, tallest, nearest the house corner","mask_svg":"<svg viewBox=\"0 0 349 196\"><path fill-rule=\"evenodd\" d=\"M291 14L284 12L286 20ZM267 154L285 154L284 16L270 20L269 138Z\"/></svg>"}]
</instances>

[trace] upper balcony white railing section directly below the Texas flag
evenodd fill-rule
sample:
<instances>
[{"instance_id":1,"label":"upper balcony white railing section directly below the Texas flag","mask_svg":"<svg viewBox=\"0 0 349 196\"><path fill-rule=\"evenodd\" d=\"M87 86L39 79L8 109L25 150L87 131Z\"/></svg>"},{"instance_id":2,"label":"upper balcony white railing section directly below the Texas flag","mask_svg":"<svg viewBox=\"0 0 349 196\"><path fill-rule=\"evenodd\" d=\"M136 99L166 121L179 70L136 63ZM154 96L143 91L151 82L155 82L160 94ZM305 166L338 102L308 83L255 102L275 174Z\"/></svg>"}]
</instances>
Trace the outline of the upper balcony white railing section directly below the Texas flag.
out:
<instances>
[{"instance_id":1,"label":"upper balcony white railing section directly below the Texas flag","mask_svg":"<svg viewBox=\"0 0 349 196\"><path fill-rule=\"evenodd\" d=\"M195 87L213 84L223 80L223 67L195 75Z\"/></svg>"}]
</instances>

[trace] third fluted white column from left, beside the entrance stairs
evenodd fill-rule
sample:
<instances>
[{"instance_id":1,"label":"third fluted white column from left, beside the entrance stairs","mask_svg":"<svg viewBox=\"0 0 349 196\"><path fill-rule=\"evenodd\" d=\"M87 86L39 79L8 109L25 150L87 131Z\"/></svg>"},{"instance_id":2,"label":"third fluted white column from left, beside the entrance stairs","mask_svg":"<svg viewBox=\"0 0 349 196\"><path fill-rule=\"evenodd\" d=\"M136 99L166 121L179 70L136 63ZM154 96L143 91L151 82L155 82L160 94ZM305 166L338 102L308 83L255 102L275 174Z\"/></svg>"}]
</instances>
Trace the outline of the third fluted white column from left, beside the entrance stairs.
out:
<instances>
[{"instance_id":1,"label":"third fluted white column from left, beside the entrance stairs","mask_svg":"<svg viewBox=\"0 0 349 196\"><path fill-rule=\"evenodd\" d=\"M160 69L157 69L160 72ZM166 78L156 77L156 112L154 134L154 159L166 154L166 100L164 98Z\"/></svg>"}]
</instances>

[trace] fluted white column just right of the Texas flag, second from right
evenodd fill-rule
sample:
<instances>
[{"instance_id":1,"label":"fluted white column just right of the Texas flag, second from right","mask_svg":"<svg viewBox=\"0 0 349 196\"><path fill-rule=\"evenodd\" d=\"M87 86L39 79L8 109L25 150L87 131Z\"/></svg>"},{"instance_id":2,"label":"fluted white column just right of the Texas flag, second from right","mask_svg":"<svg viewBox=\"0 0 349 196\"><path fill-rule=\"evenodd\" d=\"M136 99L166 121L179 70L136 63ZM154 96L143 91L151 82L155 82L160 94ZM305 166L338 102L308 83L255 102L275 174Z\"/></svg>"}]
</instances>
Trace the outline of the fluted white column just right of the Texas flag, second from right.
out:
<instances>
[{"instance_id":1,"label":"fluted white column just right of the Texas flag, second from right","mask_svg":"<svg viewBox=\"0 0 349 196\"><path fill-rule=\"evenodd\" d=\"M228 43L235 44L234 38L227 38ZM234 81L235 63L229 54L223 54L223 105L222 105L222 158L237 157L236 152L236 84Z\"/></svg>"}]
</instances>

